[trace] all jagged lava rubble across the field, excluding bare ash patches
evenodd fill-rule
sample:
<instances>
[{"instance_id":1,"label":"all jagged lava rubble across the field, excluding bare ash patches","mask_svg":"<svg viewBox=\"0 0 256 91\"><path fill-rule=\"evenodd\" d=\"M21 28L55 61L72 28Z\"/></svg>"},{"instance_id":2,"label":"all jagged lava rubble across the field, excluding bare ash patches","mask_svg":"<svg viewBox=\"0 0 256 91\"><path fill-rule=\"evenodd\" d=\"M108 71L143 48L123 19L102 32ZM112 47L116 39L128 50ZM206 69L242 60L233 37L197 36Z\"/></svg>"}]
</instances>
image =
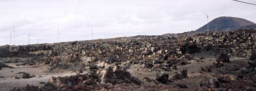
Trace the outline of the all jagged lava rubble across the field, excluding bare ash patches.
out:
<instances>
[{"instance_id":1,"label":"all jagged lava rubble across the field, excluding bare ash patches","mask_svg":"<svg viewBox=\"0 0 256 91\"><path fill-rule=\"evenodd\" d=\"M4 63L19 63L17 66L45 65L47 71L69 69L79 73L69 77L51 77L49 82L42 83L44 86L27 85L24 88L14 88L14 91L88 91L103 88L109 90L116 85L130 84L131 87L127 88L133 88L132 85L134 84L137 86L143 84L141 80L131 76L126 71L129 68L137 70L134 71L135 75L143 74L144 71L153 71L154 73L161 71L157 74L156 80L151 80L148 76L144 77L144 82L169 85L168 82L175 81L176 87L180 87L180 89L192 89L190 87L195 87L195 85L190 83L193 82L183 84L180 79L186 80L190 77L198 79L201 76L205 81L201 83L202 89L225 91L226 88L231 88L231 82L243 84L249 80L256 83L256 53L253 52L255 50L256 37L251 31L140 35L67 43L0 46L0 60L3 60L0 63L0 69L3 67L11 68ZM207 57L207 54L210 57ZM213 64L206 65L205 63L205 66L198 67L199 70L201 68L202 71L206 72L189 69L192 75L189 74L189 78L186 78L188 77L186 69L190 67L187 64L193 63L192 65L195 65L198 63L201 65L204 62L211 62L210 60L218 54L220 55ZM240 68L236 68L238 67L236 62L230 62L230 57L249 58L250 55L248 67L241 70L237 75L236 72ZM225 69L227 65L230 65L229 69L234 68L235 70ZM242 65L242 67L245 66ZM167 74L175 70L180 71L170 76ZM143 72L140 73L140 71ZM204 74L207 75L202 76ZM233 80L232 77L226 75L218 77L219 74L233 74L237 75L239 79ZM23 78L31 77L33 76L23 73ZM237 88L236 86L234 88ZM138 88L146 88L146 86ZM245 90L245 88L242 89Z\"/></svg>"}]
</instances>

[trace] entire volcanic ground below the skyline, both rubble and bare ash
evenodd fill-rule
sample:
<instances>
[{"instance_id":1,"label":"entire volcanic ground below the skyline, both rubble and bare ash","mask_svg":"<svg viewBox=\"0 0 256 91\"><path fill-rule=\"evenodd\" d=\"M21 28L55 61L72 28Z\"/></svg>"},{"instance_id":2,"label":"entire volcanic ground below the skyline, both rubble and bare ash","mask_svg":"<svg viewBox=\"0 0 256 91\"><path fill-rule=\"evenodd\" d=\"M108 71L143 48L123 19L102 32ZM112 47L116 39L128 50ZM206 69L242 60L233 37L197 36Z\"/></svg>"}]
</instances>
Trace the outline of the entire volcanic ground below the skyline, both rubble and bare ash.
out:
<instances>
[{"instance_id":1,"label":"entire volcanic ground below the skyline, both rubble and bare ash","mask_svg":"<svg viewBox=\"0 0 256 91\"><path fill-rule=\"evenodd\" d=\"M256 30L0 46L1 91L255 91Z\"/></svg>"}]
</instances>

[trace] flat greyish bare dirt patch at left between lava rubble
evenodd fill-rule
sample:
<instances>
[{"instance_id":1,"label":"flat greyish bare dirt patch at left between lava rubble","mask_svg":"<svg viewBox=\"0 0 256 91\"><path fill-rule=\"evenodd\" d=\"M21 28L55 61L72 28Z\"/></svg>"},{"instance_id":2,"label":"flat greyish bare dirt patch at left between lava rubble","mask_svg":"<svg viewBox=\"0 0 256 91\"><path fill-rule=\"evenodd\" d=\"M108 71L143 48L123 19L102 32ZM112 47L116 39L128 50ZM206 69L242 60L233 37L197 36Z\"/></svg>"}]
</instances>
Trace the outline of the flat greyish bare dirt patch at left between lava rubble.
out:
<instances>
[{"instance_id":1,"label":"flat greyish bare dirt patch at left between lava rubble","mask_svg":"<svg viewBox=\"0 0 256 91\"><path fill-rule=\"evenodd\" d=\"M15 68L3 68L0 70L0 91L10 91L14 87L24 87L29 85L39 85L38 82L48 82L50 77L64 77L75 75L75 72L67 70L58 71L43 71L44 66L15 66L14 64L7 64ZM22 74L17 74L18 72L26 72L36 77L23 79ZM39 77L40 76L40 77ZM20 79L14 79L14 77L19 77Z\"/></svg>"}]
</instances>

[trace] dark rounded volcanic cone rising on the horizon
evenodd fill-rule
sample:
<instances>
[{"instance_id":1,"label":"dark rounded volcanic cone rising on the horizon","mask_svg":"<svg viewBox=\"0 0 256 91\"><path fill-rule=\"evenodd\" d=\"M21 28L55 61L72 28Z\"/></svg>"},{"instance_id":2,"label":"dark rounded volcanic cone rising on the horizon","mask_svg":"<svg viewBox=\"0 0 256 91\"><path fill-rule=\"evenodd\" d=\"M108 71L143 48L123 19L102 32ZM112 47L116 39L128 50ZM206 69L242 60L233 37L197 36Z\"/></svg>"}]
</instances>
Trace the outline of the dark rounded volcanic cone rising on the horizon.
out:
<instances>
[{"instance_id":1,"label":"dark rounded volcanic cone rising on the horizon","mask_svg":"<svg viewBox=\"0 0 256 91\"><path fill-rule=\"evenodd\" d=\"M255 23L237 17L218 17L209 22L209 30L224 30L229 28L239 28L243 26L255 25ZM207 31L207 24L196 31Z\"/></svg>"}]
</instances>

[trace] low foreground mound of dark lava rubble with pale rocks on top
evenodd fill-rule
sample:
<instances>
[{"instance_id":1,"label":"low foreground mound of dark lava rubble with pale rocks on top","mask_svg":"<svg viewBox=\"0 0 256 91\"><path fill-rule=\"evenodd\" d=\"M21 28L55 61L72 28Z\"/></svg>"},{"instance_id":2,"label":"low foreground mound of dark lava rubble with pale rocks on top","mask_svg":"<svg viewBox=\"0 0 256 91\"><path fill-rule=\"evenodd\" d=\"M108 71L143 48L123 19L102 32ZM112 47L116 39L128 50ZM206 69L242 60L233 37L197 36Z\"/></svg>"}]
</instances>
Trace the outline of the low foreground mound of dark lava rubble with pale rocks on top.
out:
<instances>
[{"instance_id":1,"label":"low foreground mound of dark lava rubble with pale rocks on top","mask_svg":"<svg viewBox=\"0 0 256 91\"><path fill-rule=\"evenodd\" d=\"M24 75L24 73L23 73ZM27 85L23 88L14 88L12 91L73 91L73 90L99 90L101 88L109 89L115 84L136 84L141 85L143 82L132 77L128 71L118 66L99 69L96 66L90 67L87 74L76 74L67 77L50 77L49 82L44 86L38 87Z\"/></svg>"}]
</instances>

